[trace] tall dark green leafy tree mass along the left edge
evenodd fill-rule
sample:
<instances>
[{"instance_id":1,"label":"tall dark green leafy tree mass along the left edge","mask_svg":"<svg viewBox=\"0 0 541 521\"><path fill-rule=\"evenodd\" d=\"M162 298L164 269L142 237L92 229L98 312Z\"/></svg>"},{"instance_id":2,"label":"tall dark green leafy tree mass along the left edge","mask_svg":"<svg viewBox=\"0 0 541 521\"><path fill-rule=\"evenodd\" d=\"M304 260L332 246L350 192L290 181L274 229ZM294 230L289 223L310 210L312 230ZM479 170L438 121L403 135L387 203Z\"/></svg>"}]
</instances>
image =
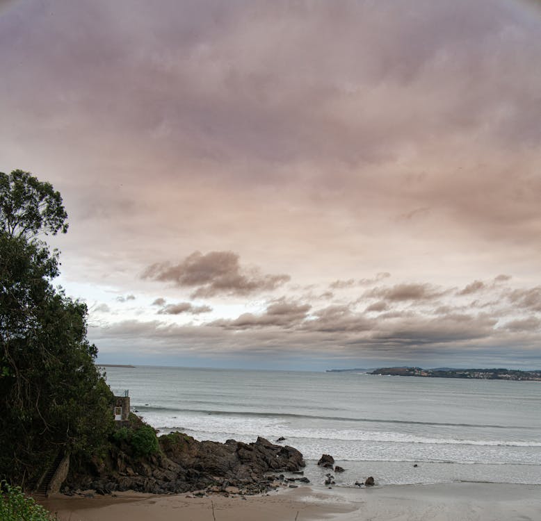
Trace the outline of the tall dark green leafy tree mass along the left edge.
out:
<instances>
[{"instance_id":1,"label":"tall dark green leafy tree mass along the left edge","mask_svg":"<svg viewBox=\"0 0 541 521\"><path fill-rule=\"evenodd\" d=\"M112 393L86 338L86 305L51 281L67 231L58 192L28 172L0 173L0 479L37 478L60 450L92 454L113 427Z\"/></svg>"}]
</instances>

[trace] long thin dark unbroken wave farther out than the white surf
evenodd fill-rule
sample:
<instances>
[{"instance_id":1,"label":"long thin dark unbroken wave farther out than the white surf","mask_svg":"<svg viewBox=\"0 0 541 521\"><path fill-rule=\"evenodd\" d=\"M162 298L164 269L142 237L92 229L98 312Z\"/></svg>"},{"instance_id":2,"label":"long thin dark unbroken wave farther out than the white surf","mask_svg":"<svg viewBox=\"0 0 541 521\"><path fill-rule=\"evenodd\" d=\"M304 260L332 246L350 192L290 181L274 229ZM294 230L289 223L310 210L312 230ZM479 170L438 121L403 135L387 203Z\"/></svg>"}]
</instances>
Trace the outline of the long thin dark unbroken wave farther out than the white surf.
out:
<instances>
[{"instance_id":1,"label":"long thin dark unbroken wave farther out than the white surf","mask_svg":"<svg viewBox=\"0 0 541 521\"><path fill-rule=\"evenodd\" d=\"M439 427L473 427L481 429L517 429L513 425L494 425L494 424L474 424L474 423L451 423L451 422L421 422L416 420L383 420L382 418L359 418L359 417L342 417L342 416L321 416L313 414L297 414L297 413L261 413L257 411L216 411L213 409L195 409L195 408L170 408L162 406L147 406L136 405L132 406L132 410L137 411L160 411L162 413L200 413L204 415L219 415L219 416L239 416L239 417L266 417L266 418L307 418L309 420L332 420L334 422L371 422L371 423L389 423L389 424L405 424L405 425L435 425ZM520 429L533 429L532 427L520 427Z\"/></svg>"}]
</instances>

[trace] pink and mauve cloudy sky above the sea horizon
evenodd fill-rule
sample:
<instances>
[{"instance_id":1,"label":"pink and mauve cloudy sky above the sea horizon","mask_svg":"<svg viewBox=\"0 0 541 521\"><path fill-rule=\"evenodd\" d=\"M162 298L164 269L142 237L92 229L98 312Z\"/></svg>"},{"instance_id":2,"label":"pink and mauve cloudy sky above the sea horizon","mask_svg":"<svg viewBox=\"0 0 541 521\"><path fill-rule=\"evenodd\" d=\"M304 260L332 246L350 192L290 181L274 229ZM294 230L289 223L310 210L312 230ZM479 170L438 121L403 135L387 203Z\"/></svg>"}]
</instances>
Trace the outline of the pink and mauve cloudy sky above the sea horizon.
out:
<instances>
[{"instance_id":1,"label":"pink and mauve cloudy sky above the sea horizon","mask_svg":"<svg viewBox=\"0 0 541 521\"><path fill-rule=\"evenodd\" d=\"M0 171L100 363L541 368L541 5L0 1Z\"/></svg>"}]
</instances>

